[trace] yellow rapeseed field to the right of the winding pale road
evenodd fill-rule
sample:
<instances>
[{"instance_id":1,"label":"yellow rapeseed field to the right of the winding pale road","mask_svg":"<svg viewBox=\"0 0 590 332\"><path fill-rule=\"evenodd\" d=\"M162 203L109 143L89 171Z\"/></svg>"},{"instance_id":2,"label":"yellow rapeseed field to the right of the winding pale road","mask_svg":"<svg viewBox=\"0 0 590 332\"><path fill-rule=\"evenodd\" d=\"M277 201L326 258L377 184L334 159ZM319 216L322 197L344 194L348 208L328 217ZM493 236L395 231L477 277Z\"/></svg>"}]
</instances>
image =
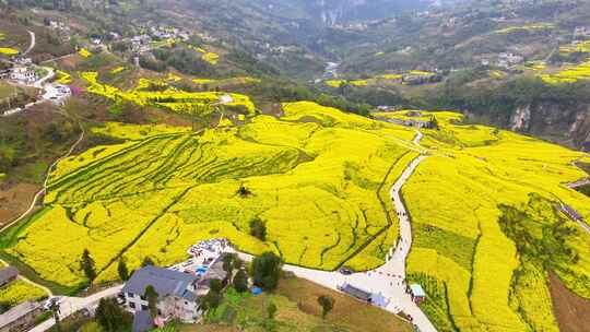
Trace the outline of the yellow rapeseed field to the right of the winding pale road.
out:
<instances>
[{"instance_id":1,"label":"yellow rapeseed field to the right of the winding pale road","mask_svg":"<svg viewBox=\"0 0 590 332\"><path fill-rule=\"evenodd\" d=\"M408 272L430 299L423 309L440 331L558 331L547 272L590 298L590 235L556 210L563 202L590 220L590 199L562 185L586 176L571 166L582 154L422 114L433 115L440 130L423 140L433 155L402 189L414 229Z\"/></svg>"}]
</instances>

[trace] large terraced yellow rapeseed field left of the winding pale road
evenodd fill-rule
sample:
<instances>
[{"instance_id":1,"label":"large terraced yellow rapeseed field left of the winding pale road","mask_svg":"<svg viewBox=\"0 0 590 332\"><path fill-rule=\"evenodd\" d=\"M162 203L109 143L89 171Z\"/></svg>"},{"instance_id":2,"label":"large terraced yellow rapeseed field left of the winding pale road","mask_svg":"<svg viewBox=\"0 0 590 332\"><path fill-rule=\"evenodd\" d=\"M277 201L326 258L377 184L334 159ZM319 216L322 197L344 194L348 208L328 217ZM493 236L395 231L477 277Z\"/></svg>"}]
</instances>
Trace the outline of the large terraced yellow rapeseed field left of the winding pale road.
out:
<instances>
[{"instance_id":1,"label":"large terraced yellow rapeseed field left of the winding pale road","mask_svg":"<svg viewBox=\"0 0 590 332\"><path fill-rule=\"evenodd\" d=\"M96 128L127 141L60 163L45 209L4 235L5 250L67 286L84 281L84 248L108 281L120 256L131 268L148 256L172 264L211 237L317 269L379 265L397 238L387 190L415 155L406 147L414 132L312 103L284 114L202 134ZM253 218L267 224L266 242L249 235Z\"/></svg>"}]
</instances>

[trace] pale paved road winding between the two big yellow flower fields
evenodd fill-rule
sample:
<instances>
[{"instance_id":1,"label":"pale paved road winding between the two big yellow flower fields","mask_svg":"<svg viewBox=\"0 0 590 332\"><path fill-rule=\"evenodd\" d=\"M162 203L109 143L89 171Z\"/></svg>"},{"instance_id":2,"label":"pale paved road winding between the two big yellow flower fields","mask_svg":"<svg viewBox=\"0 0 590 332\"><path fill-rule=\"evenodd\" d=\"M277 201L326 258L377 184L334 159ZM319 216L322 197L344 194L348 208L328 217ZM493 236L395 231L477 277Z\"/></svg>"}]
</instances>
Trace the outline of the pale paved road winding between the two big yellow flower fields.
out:
<instances>
[{"instance_id":1,"label":"pale paved road winding between the two big yellow flower fields","mask_svg":"<svg viewBox=\"0 0 590 332\"><path fill-rule=\"evenodd\" d=\"M420 146L422 137L422 133L417 132L413 143ZM309 280L332 289L338 289L339 285L347 283L373 294L380 294L385 298L389 299L389 304L384 309L393 313L404 312L410 315L413 318L413 323L422 332L436 332L436 328L428 320L426 315L422 312L420 307L412 301L410 295L405 293L406 288L404 283L405 259L410 252L410 248L412 247L412 227L408 216L408 211L400 197L400 190L405 181L408 181L408 179L412 176L420 163L426 157L426 155L422 154L413 159L402 173L400 178L396 181L393 187L391 187L391 201L400 221L400 239L397 247L394 249L391 248L390 254L388 254L387 261L384 265L371 271L354 273L351 275L343 275L339 272L312 270L288 264L285 264L283 270L291 271L299 277ZM239 257L247 261L252 259L251 256L241 252L239 253Z\"/></svg>"}]
</instances>

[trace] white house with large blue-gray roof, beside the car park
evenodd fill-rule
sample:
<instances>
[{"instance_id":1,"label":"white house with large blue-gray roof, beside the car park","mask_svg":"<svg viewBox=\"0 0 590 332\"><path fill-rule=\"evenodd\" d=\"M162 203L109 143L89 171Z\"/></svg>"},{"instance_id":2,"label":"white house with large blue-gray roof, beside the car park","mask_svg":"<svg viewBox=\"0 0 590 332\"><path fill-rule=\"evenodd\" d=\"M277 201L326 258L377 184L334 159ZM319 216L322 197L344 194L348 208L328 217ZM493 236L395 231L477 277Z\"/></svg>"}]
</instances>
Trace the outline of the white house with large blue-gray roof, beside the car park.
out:
<instances>
[{"instance_id":1,"label":"white house with large blue-gray roof, beside the car park","mask_svg":"<svg viewBox=\"0 0 590 332\"><path fill-rule=\"evenodd\" d=\"M145 288L158 295L157 311L163 318L194 322L201 315L196 292L199 276L148 265L135 271L125 284L125 306L131 312L148 310Z\"/></svg>"}]
</instances>

